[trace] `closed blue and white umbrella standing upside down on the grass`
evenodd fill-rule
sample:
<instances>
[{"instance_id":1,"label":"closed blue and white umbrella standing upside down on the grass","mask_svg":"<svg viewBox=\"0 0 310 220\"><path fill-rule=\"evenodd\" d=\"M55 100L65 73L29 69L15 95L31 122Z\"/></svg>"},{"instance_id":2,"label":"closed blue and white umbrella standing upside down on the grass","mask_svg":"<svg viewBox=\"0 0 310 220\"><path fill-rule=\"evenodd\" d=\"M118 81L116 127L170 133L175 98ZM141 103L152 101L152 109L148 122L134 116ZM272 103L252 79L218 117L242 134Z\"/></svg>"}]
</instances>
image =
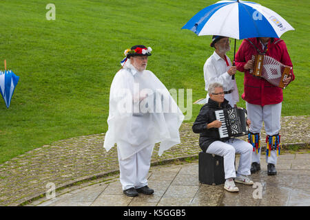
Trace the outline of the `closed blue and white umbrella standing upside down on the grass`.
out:
<instances>
[{"instance_id":1,"label":"closed blue and white umbrella standing upside down on the grass","mask_svg":"<svg viewBox=\"0 0 310 220\"><path fill-rule=\"evenodd\" d=\"M4 102L6 102L7 108L10 107L14 89L18 82L19 76L16 76L12 70L0 71L0 93Z\"/></svg>"}]
</instances>

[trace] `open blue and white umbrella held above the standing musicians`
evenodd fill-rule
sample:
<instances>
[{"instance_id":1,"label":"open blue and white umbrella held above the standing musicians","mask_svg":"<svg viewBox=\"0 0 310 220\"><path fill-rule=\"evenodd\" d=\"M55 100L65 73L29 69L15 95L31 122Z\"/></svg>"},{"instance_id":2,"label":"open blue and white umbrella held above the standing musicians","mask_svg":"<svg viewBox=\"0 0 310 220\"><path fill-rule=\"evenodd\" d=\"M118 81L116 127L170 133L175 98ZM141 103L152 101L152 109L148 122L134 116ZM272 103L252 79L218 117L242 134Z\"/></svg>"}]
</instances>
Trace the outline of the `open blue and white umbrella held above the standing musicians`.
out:
<instances>
[{"instance_id":1,"label":"open blue and white umbrella held above the standing musicians","mask_svg":"<svg viewBox=\"0 0 310 220\"><path fill-rule=\"evenodd\" d=\"M218 1L200 10L182 29L198 36L219 35L234 39L276 37L294 28L279 14L250 1Z\"/></svg>"}]
</instances>

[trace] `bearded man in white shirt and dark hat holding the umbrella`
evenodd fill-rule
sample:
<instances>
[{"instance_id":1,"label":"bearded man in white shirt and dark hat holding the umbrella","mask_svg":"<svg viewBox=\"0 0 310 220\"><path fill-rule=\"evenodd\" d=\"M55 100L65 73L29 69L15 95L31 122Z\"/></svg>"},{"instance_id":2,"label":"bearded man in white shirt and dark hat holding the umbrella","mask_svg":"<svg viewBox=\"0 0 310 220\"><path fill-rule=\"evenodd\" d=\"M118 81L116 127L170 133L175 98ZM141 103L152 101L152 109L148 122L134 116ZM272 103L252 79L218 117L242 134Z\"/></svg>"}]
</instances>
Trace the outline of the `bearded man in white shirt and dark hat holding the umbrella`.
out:
<instances>
[{"instance_id":1,"label":"bearded man in white shirt and dark hat holding the umbrella","mask_svg":"<svg viewBox=\"0 0 310 220\"><path fill-rule=\"evenodd\" d=\"M231 107L236 107L239 101L238 88L236 80L231 80L231 76L236 74L236 67L231 66L231 61L226 55L230 50L229 38L225 36L212 37L211 47L214 47L214 53L207 59L203 67L205 76L205 90L211 83L220 83L223 85L225 99L228 100ZM209 100L209 93L207 100Z\"/></svg>"}]
</instances>

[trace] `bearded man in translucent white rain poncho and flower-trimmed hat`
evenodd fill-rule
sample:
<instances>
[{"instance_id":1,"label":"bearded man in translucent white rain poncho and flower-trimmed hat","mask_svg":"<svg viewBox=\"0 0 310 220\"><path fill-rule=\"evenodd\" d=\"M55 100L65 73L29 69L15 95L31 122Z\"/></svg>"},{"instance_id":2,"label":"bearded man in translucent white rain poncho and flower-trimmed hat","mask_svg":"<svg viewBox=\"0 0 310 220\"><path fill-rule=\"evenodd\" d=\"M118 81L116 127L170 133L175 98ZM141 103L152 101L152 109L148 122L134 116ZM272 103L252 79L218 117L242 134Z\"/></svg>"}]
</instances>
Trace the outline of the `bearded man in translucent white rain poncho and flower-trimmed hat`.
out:
<instances>
[{"instance_id":1,"label":"bearded man in translucent white rain poncho and flower-trimmed hat","mask_svg":"<svg viewBox=\"0 0 310 220\"><path fill-rule=\"evenodd\" d=\"M178 129L184 115L169 91L147 67L151 47L135 45L125 58L110 88L108 130L103 146L117 145L123 192L134 197L150 195L147 173L154 144L161 142L158 155L180 143Z\"/></svg>"}]
</instances>

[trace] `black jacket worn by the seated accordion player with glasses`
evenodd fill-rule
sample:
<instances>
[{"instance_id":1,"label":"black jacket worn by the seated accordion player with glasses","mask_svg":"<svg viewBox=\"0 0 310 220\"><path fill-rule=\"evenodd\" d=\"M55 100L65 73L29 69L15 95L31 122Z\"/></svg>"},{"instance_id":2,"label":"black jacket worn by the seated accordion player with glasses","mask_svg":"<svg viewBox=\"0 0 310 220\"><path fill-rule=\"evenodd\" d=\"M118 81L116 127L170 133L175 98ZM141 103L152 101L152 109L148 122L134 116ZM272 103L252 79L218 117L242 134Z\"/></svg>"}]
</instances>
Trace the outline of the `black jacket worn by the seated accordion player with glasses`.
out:
<instances>
[{"instance_id":1,"label":"black jacket worn by the seated accordion player with glasses","mask_svg":"<svg viewBox=\"0 0 310 220\"><path fill-rule=\"evenodd\" d=\"M218 102L209 98L208 102L200 109L200 112L193 124L192 129L194 133L200 133L199 146L204 152L207 151L208 146L212 142L215 142L216 140L223 141L223 139L220 139L218 129L207 129L207 124L216 120L216 115L214 111L230 108L231 106L230 104L228 104L228 101L226 99L223 103L220 104L220 107L218 107Z\"/></svg>"}]
</instances>

